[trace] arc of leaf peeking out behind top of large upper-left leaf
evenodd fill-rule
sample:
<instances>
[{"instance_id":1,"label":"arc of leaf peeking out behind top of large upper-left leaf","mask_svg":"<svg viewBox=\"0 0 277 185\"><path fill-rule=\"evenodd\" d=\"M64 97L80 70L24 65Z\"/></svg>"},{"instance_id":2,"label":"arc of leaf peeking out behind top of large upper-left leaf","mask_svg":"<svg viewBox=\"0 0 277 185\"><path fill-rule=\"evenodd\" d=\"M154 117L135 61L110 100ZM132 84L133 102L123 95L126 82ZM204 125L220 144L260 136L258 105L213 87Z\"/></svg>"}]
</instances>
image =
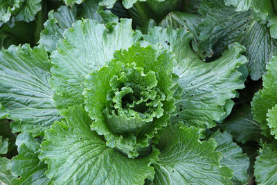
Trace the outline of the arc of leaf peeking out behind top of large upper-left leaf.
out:
<instances>
[{"instance_id":1,"label":"arc of leaf peeking out behind top of large upper-left leaf","mask_svg":"<svg viewBox=\"0 0 277 185\"><path fill-rule=\"evenodd\" d=\"M57 41L63 39L63 33L66 29L71 28L72 24L79 19L95 19L98 23L106 21L118 22L114 15L106 10L98 13L98 2L95 0L87 0L80 6L69 8L61 6L56 12L51 10L48 12L48 20L44 23L44 30L39 39L39 44L45 46L46 51L54 51L57 49ZM100 8L102 10L104 8Z\"/></svg>"}]
</instances>

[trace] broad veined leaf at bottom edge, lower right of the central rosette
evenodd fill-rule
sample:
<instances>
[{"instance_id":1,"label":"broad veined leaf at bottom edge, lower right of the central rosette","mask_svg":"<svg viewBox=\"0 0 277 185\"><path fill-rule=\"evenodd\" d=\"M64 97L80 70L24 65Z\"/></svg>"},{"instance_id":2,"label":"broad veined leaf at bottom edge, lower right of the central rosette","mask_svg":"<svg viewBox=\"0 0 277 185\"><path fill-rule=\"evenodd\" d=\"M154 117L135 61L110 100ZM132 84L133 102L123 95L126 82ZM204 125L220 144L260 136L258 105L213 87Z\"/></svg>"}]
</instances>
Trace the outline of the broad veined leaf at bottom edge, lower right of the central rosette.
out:
<instances>
[{"instance_id":1,"label":"broad veined leaf at bottom edge, lower right of the central rosette","mask_svg":"<svg viewBox=\"0 0 277 185\"><path fill-rule=\"evenodd\" d=\"M166 128L159 140L154 184L231 184L232 170L220 166L215 140L201 142L195 127L179 126Z\"/></svg>"}]
</instances>

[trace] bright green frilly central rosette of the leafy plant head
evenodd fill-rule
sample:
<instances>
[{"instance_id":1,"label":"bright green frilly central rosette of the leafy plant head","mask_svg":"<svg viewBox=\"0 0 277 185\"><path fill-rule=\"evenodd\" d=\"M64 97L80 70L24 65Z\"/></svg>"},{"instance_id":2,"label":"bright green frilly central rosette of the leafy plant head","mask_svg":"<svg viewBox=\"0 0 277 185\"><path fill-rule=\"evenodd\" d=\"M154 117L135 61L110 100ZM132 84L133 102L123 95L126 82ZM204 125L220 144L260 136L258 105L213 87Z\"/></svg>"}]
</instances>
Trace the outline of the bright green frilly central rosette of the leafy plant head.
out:
<instances>
[{"instance_id":1,"label":"bright green frilly central rosette of the leafy plant head","mask_svg":"<svg viewBox=\"0 0 277 185\"><path fill-rule=\"evenodd\" d=\"M107 146L130 158L148 155L152 138L175 112L174 62L169 51L134 44L89 74L86 109L94 121L91 128L105 136Z\"/></svg>"}]
</instances>

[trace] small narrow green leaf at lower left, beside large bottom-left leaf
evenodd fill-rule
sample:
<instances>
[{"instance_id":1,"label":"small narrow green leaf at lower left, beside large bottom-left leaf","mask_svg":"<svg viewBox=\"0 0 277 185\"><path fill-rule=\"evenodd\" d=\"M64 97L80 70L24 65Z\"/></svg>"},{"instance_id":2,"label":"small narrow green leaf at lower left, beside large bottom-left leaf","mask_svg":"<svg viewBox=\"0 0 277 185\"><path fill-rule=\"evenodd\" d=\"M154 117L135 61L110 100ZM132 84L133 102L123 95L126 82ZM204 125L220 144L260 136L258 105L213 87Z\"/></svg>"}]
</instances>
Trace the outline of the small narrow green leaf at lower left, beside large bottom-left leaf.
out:
<instances>
[{"instance_id":1,"label":"small narrow green leaf at lower left, beside large bottom-left leaf","mask_svg":"<svg viewBox=\"0 0 277 185\"><path fill-rule=\"evenodd\" d=\"M50 179L44 174L47 165L39 160L39 141L33 139L30 132L17 136L18 155L11 160L11 172L17 177L12 184L49 184Z\"/></svg>"}]
</instances>

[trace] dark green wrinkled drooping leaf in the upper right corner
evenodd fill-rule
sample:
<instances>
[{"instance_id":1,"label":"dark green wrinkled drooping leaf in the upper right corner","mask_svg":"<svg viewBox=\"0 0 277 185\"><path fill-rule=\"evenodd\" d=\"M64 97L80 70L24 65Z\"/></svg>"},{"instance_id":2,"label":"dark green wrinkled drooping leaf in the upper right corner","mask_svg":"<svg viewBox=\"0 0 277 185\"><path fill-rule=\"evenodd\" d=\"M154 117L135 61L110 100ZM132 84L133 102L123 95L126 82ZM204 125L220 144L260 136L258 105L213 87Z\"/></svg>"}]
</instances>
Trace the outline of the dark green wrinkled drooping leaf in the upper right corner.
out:
<instances>
[{"instance_id":1,"label":"dark green wrinkled drooping leaf in the upper right corner","mask_svg":"<svg viewBox=\"0 0 277 185\"><path fill-rule=\"evenodd\" d=\"M261 78L265 65L277 54L277 42L270 37L267 26L255 21L251 11L235 12L223 0L202 1L199 12L205 16L199 26L199 39L206 53L218 57L229 44L240 42L247 49L251 79Z\"/></svg>"}]
</instances>

